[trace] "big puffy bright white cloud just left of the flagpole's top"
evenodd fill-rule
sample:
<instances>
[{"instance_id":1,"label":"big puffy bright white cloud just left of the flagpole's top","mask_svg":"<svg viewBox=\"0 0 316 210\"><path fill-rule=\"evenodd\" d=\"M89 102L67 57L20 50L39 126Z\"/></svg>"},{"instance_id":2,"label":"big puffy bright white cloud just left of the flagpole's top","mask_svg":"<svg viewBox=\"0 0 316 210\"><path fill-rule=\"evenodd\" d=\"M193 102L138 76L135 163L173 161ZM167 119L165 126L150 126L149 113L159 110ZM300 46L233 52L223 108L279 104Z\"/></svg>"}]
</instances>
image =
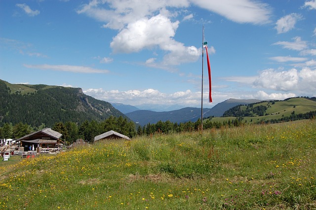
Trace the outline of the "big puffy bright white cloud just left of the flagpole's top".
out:
<instances>
[{"instance_id":1,"label":"big puffy bright white cloud just left of the flagpole's top","mask_svg":"<svg viewBox=\"0 0 316 210\"><path fill-rule=\"evenodd\" d=\"M172 23L162 15L150 19L143 18L127 26L113 38L110 46L114 52L138 52L144 48L158 46L169 52L163 58L161 65L179 65L181 63L195 62L200 52L195 46L184 46L183 43L173 39L179 21ZM151 60L152 62L153 60Z\"/></svg>"}]
</instances>

